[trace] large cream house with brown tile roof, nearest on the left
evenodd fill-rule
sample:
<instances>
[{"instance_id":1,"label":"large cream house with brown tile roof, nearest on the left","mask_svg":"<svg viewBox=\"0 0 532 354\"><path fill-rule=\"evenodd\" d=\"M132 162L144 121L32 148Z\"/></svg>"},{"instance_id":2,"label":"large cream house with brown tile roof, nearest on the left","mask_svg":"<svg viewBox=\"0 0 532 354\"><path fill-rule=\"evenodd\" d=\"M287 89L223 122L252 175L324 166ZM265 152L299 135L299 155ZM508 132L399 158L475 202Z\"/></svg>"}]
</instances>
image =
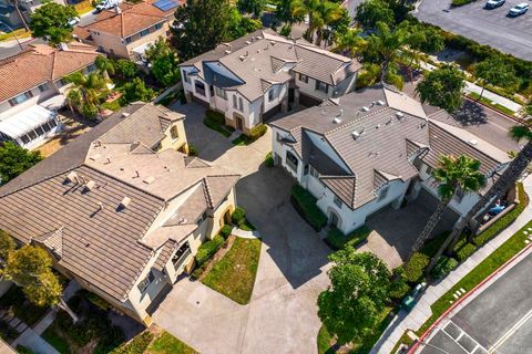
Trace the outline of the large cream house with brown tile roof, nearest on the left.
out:
<instances>
[{"instance_id":1,"label":"large cream house with brown tile roof, nearest on the left","mask_svg":"<svg viewBox=\"0 0 532 354\"><path fill-rule=\"evenodd\" d=\"M0 188L0 229L149 324L150 305L235 208L238 175L157 149L183 119L153 104L114 113Z\"/></svg>"}]
</instances>

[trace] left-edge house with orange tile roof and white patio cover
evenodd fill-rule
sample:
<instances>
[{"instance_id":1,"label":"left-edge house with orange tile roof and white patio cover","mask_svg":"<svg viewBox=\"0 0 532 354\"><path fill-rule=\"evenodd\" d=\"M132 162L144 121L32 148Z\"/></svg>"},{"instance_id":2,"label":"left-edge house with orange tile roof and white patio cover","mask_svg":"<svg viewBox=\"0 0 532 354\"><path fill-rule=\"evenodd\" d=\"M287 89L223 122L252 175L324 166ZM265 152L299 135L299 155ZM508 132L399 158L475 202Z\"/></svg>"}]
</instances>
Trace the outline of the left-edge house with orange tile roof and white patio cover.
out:
<instances>
[{"instance_id":1,"label":"left-edge house with orange tile roof and white patio cover","mask_svg":"<svg viewBox=\"0 0 532 354\"><path fill-rule=\"evenodd\" d=\"M72 42L33 44L0 61L0 140L35 148L61 129L55 110L65 103L69 74L95 70L95 48Z\"/></svg>"}]
</instances>

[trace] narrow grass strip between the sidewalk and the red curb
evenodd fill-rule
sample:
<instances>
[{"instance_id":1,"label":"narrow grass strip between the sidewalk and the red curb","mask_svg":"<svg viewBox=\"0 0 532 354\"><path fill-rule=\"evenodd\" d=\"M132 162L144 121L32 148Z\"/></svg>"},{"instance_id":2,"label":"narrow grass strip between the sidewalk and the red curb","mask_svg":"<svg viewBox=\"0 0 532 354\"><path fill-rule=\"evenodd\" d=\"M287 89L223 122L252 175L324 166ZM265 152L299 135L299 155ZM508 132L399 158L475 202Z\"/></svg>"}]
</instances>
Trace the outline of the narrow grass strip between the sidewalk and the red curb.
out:
<instances>
[{"instance_id":1,"label":"narrow grass strip between the sidewalk and the red curb","mask_svg":"<svg viewBox=\"0 0 532 354\"><path fill-rule=\"evenodd\" d=\"M530 227L532 227L532 221L529 221L525 226L523 226L523 228L521 228L515 235L513 235L507 242L499 247L493 253L491 253L479 266L471 270L447 293L444 293L443 296L438 299L438 301L434 302L431 306L432 315L418 330L417 334L421 335L422 333L424 333L430 327L430 325L434 323L436 320L438 320L441 314L451 306L450 302L454 301L452 294L457 292L457 290L459 290L460 288L466 289L466 291L472 290L482 280L493 273L499 267L501 267L513 256L519 253L526 246L526 243L524 243L526 235L524 235L523 231Z\"/></svg>"}]
</instances>

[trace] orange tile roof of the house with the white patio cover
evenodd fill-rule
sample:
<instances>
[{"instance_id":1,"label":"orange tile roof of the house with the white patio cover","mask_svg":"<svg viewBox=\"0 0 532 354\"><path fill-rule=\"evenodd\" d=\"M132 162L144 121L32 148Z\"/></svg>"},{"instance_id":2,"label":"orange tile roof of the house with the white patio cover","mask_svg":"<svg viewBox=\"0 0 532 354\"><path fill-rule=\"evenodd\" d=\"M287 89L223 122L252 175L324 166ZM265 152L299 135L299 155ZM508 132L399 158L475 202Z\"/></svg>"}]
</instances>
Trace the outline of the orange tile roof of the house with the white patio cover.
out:
<instances>
[{"instance_id":1,"label":"orange tile roof of the house with the white patio cover","mask_svg":"<svg viewBox=\"0 0 532 354\"><path fill-rule=\"evenodd\" d=\"M33 44L23 52L0 61L0 102L86 67L101 55L95 52L95 48L79 44L70 45L69 50Z\"/></svg>"}]
</instances>

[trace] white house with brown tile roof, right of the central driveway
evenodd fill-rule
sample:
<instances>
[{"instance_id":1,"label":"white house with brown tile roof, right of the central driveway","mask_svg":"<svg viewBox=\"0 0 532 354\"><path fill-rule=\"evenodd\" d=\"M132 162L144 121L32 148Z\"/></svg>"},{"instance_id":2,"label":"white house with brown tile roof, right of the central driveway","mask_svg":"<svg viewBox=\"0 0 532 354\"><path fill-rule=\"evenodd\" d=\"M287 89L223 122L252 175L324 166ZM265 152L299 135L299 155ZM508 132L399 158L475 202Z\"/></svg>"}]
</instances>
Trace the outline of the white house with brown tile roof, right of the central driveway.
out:
<instances>
[{"instance_id":1,"label":"white house with brown tile roof, right of the central driveway","mask_svg":"<svg viewBox=\"0 0 532 354\"><path fill-rule=\"evenodd\" d=\"M430 173L442 155L480 160L490 183L499 176L508 155L448 118L379 85L274 122L274 160L317 198L329 225L348 233L405 199L422 194L436 204ZM446 218L456 221L478 200L478 194L457 195Z\"/></svg>"}]
</instances>

